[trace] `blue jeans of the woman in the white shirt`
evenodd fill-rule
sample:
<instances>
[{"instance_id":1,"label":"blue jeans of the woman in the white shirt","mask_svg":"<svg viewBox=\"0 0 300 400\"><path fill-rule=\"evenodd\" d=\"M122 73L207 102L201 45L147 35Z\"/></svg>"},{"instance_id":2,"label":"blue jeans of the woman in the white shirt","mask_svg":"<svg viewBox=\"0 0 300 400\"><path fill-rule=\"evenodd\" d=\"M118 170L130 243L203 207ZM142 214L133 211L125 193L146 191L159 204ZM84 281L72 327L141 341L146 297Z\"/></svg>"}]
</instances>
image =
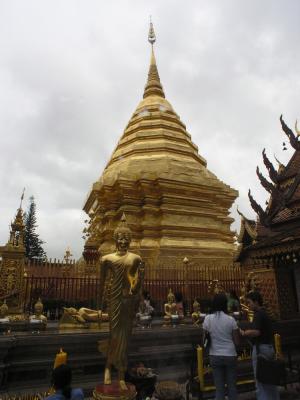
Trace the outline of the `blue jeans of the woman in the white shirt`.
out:
<instances>
[{"instance_id":1,"label":"blue jeans of the woman in the white shirt","mask_svg":"<svg viewBox=\"0 0 300 400\"><path fill-rule=\"evenodd\" d=\"M216 386L216 400L225 399L225 384L227 384L228 399L237 399L236 365L237 358L229 356L210 356L210 365Z\"/></svg>"}]
</instances>

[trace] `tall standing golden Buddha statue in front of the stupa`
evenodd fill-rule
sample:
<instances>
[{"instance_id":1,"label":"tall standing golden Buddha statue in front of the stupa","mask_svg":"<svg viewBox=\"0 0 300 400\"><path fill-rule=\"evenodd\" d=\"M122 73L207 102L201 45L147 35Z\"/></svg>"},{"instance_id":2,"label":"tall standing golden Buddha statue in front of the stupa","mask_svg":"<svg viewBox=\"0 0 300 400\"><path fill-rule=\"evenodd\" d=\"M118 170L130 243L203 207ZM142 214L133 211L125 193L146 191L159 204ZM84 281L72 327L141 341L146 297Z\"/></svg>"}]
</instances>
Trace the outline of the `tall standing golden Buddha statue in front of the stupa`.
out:
<instances>
[{"instance_id":1,"label":"tall standing golden Buddha statue in front of the stupa","mask_svg":"<svg viewBox=\"0 0 300 400\"><path fill-rule=\"evenodd\" d=\"M118 370L121 390L127 390L125 371L127 368L128 343L131 336L136 305L144 277L141 257L128 251L131 231L123 214L121 223L114 231L116 252L101 258L100 304L106 277L110 276L107 293L109 316L109 339L99 343L99 350L106 355L104 384L111 384L111 368ZM102 307L101 307L102 308Z\"/></svg>"}]
</instances>

